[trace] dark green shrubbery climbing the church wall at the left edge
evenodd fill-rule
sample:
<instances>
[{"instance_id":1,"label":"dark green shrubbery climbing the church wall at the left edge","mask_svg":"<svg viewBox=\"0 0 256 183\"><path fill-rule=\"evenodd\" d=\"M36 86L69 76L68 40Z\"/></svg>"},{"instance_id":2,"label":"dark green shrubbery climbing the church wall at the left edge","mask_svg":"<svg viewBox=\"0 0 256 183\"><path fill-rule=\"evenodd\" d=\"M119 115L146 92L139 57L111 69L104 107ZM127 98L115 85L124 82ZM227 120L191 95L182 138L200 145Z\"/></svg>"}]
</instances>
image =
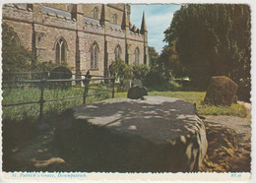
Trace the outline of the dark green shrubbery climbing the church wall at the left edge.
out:
<instances>
[{"instance_id":1,"label":"dark green shrubbery climbing the church wall at the left edge","mask_svg":"<svg viewBox=\"0 0 256 183\"><path fill-rule=\"evenodd\" d=\"M54 68L63 66L69 68L67 63L56 64L49 62L38 62L23 45L21 45L17 33L13 28L2 24L2 69L4 80L16 79L40 79L41 73L37 74L14 74L16 72L45 71L51 72Z\"/></svg>"}]
</instances>

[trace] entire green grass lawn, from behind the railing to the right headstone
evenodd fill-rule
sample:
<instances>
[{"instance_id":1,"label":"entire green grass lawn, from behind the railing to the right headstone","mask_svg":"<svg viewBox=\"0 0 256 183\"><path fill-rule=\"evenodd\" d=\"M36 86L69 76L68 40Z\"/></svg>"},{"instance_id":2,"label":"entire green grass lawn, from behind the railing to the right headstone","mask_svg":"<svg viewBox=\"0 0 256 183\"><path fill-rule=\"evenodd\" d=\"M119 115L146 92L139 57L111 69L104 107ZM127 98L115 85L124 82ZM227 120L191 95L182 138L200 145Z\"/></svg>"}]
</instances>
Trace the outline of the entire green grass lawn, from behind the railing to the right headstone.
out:
<instances>
[{"instance_id":1,"label":"entire green grass lawn, from behind the railing to the right headstone","mask_svg":"<svg viewBox=\"0 0 256 183\"><path fill-rule=\"evenodd\" d=\"M99 85L98 85L99 86ZM94 87L97 89L104 90L104 87ZM82 95L84 89L82 88L71 88L70 90L45 90L44 99L61 98L65 96ZM90 93L96 92L91 90ZM214 106L214 105L203 105L206 92L205 91L150 91L149 95L160 95L168 97L177 97L185 101L196 103L198 113L200 115L232 115L245 117L246 109L241 104L232 104L229 106ZM17 89L17 90L3 90L2 103L18 103L26 101L38 101L40 91L33 88ZM115 92L115 97L126 97L127 92ZM87 103L110 98L111 93L94 95L87 97ZM49 114L60 114L65 109L83 104L83 97L75 99L66 99L53 102L45 102L43 106L43 113ZM39 115L39 104L27 104L21 106L3 107L3 119L23 119L26 117L37 118Z\"/></svg>"}]
</instances>

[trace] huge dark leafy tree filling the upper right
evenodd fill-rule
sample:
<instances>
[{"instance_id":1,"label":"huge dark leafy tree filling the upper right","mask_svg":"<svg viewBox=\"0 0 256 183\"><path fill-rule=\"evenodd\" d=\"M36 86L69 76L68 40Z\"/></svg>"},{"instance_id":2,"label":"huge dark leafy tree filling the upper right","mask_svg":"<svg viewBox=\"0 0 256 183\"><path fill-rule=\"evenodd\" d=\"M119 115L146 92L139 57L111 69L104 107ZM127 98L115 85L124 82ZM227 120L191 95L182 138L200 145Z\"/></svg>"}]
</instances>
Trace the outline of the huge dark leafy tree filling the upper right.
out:
<instances>
[{"instance_id":1,"label":"huge dark leafy tree filling the upper right","mask_svg":"<svg viewBox=\"0 0 256 183\"><path fill-rule=\"evenodd\" d=\"M228 76L250 91L250 7L242 4L183 5L164 31L176 42L180 62L196 86Z\"/></svg>"}]
</instances>

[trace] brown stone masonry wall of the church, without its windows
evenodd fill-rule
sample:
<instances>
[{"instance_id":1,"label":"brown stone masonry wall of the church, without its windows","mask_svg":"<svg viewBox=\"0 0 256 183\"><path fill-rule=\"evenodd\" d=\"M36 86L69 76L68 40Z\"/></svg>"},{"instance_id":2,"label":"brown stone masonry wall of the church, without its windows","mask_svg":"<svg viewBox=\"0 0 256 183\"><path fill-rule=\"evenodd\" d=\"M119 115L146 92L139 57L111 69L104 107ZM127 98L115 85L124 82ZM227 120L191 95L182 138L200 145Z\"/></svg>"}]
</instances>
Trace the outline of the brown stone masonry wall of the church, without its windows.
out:
<instances>
[{"instance_id":1,"label":"brown stone masonry wall of the church, without its windows","mask_svg":"<svg viewBox=\"0 0 256 183\"><path fill-rule=\"evenodd\" d=\"M55 62L55 45L59 38L63 38L67 45L67 63L72 72L76 71L76 62L79 70L86 74L88 70L93 75L104 75L104 68L108 68L115 60L115 48L121 47L121 59L126 59L128 49L129 64L135 62L135 49L140 50L139 61L144 63L144 35L130 30L120 30L112 24L111 16L117 15L117 25L121 27L124 4L107 5L109 27L104 28L99 22L90 22L83 16L93 16L94 7L98 8L98 18L101 16L101 4L84 4L80 10L84 15L76 19L71 13L70 4L23 4L21 6L6 4L2 8L3 23L12 27L23 46L30 51L35 50L40 62ZM73 6L73 5L72 5ZM49 8L50 7L50 8ZM52 8L55 8L56 11ZM129 10L128 10L129 11ZM128 20L130 12L128 12ZM32 38L33 37L33 38ZM105 41L107 51L105 52ZM99 48L98 68L91 69L92 45L96 42ZM127 44L126 44L127 42ZM79 56L79 57L77 57ZM107 65L104 59L107 58ZM78 68L77 68L78 69Z\"/></svg>"}]
</instances>

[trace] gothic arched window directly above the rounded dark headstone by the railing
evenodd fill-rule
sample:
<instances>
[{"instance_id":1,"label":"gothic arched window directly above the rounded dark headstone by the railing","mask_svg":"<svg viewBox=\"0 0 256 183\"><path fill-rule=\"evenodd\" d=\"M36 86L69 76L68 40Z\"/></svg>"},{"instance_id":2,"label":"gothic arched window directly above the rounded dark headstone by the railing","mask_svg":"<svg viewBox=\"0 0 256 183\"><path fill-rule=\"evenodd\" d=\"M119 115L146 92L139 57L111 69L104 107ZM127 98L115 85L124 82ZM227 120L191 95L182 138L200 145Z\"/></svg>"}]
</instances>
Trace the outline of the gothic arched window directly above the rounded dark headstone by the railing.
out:
<instances>
[{"instance_id":1,"label":"gothic arched window directly above the rounded dark headstone by the railing","mask_svg":"<svg viewBox=\"0 0 256 183\"><path fill-rule=\"evenodd\" d=\"M67 44L64 38L59 38L55 45L56 63L66 62Z\"/></svg>"}]
</instances>

